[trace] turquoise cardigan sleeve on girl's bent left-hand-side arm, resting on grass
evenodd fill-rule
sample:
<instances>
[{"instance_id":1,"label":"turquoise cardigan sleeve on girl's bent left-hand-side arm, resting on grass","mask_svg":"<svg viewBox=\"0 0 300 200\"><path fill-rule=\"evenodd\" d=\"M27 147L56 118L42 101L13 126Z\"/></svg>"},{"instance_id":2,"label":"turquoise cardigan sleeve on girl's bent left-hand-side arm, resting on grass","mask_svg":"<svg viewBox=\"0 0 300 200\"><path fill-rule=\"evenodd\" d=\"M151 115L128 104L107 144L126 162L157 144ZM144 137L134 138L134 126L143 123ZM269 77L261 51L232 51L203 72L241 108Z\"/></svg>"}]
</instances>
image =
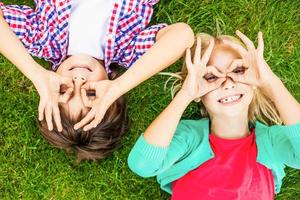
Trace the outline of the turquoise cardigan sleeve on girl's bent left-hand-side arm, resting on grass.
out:
<instances>
[{"instance_id":1,"label":"turquoise cardigan sleeve on girl's bent left-hand-side arm, resting on grass","mask_svg":"<svg viewBox=\"0 0 300 200\"><path fill-rule=\"evenodd\" d=\"M189 154L193 148L195 130L185 121L188 120L180 121L167 147L151 145L141 135L128 156L129 168L142 177L157 176Z\"/></svg>"}]
</instances>

